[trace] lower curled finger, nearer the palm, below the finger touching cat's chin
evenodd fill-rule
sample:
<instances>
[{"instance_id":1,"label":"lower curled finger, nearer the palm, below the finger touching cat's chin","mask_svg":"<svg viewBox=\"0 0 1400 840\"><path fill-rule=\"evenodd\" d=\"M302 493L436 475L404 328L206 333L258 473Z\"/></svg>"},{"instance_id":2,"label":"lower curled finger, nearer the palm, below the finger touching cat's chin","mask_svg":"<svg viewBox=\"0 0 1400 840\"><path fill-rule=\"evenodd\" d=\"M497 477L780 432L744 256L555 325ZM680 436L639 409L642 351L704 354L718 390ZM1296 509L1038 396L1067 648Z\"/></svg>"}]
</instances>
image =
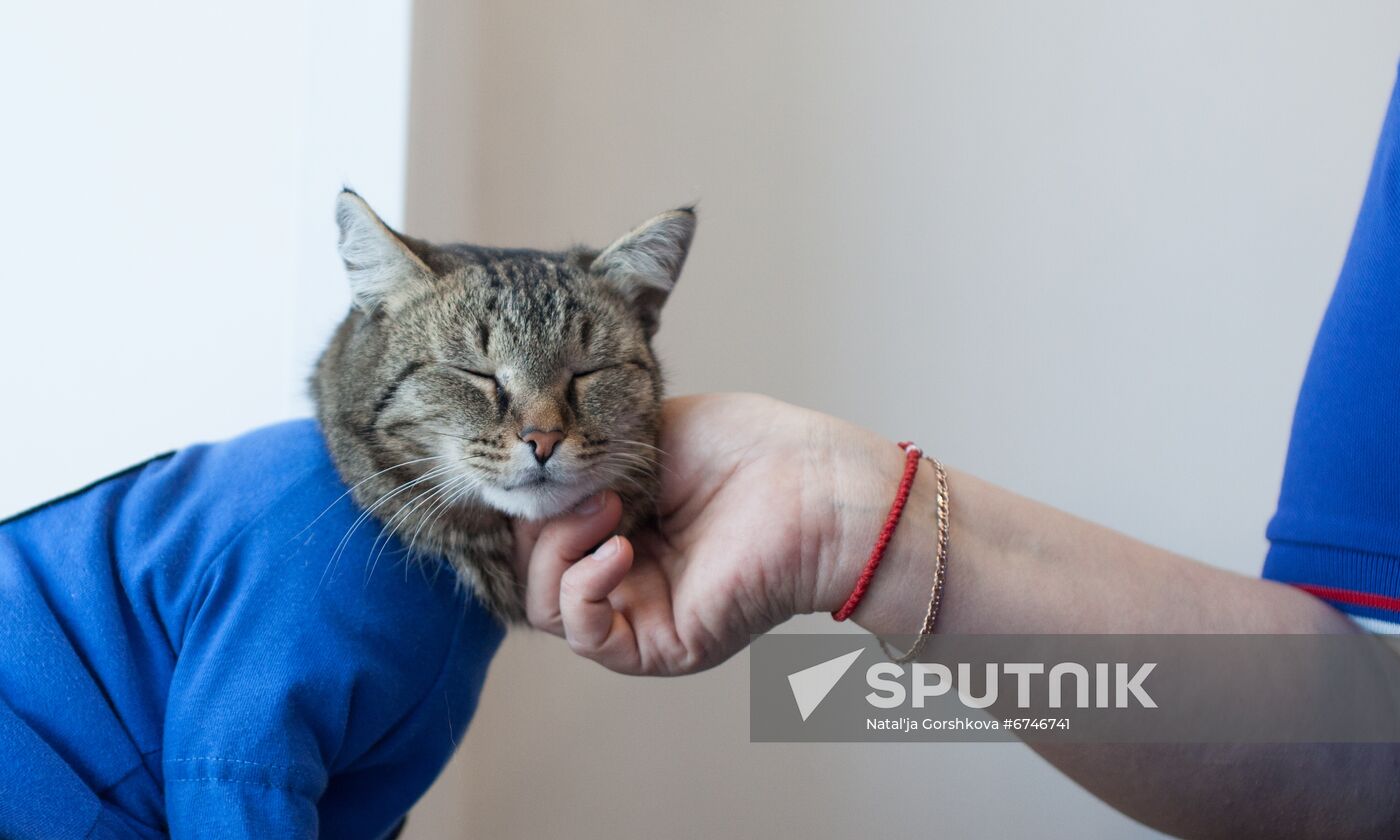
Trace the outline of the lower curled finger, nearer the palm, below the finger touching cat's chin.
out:
<instances>
[{"instance_id":1,"label":"lower curled finger, nearer the palm, below the finger touching cat's chin","mask_svg":"<svg viewBox=\"0 0 1400 840\"><path fill-rule=\"evenodd\" d=\"M631 561L631 543L615 536L564 571L559 589L568 647L622 673L640 672L641 654L631 623L608 596L627 577Z\"/></svg>"}]
</instances>

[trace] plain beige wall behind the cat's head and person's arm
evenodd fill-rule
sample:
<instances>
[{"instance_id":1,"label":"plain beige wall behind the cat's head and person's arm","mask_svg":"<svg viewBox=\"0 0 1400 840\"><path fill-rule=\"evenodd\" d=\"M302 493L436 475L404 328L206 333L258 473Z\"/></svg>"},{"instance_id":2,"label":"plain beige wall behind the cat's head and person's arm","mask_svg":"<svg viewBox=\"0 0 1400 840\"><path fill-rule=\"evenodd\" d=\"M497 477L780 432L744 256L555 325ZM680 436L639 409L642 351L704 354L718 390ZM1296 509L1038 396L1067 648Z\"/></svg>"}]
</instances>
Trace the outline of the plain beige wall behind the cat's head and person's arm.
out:
<instances>
[{"instance_id":1,"label":"plain beige wall behind the cat's head and person's arm","mask_svg":"<svg viewBox=\"0 0 1400 840\"><path fill-rule=\"evenodd\" d=\"M1380 1L420 0L409 228L603 244L699 199L673 391L843 414L1252 574L1394 32ZM750 745L743 657L623 679L528 633L410 834L872 826L1151 834L1016 745Z\"/></svg>"}]
</instances>

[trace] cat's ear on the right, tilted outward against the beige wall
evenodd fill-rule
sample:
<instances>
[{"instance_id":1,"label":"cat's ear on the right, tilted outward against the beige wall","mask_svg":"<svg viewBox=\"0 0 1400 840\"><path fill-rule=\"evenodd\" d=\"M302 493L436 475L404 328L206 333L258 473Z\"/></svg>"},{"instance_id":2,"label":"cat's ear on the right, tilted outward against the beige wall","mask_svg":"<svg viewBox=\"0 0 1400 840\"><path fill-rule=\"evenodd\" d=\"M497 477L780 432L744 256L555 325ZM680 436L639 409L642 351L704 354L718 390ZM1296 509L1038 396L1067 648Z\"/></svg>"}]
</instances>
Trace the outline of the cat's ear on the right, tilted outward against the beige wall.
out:
<instances>
[{"instance_id":1,"label":"cat's ear on the right, tilted outward against the beige wall","mask_svg":"<svg viewBox=\"0 0 1400 840\"><path fill-rule=\"evenodd\" d=\"M694 207L669 210L609 245L589 263L588 272L631 301L647 333L654 333L661 319L661 305L666 302L686 265L694 232Z\"/></svg>"}]
</instances>

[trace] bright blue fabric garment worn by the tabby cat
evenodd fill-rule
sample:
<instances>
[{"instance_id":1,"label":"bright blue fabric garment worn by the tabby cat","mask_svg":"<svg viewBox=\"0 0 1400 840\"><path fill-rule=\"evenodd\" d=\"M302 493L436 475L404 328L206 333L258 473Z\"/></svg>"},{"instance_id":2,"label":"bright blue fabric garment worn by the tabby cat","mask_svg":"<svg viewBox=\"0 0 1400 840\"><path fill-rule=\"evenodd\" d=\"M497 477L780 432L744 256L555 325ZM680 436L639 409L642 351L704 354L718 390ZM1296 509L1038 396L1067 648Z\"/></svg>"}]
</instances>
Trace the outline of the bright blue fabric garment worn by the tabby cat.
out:
<instances>
[{"instance_id":1,"label":"bright blue fabric garment worn by the tabby cat","mask_svg":"<svg viewBox=\"0 0 1400 840\"><path fill-rule=\"evenodd\" d=\"M504 629L358 515L305 420L0 524L0 837L391 832Z\"/></svg>"}]
</instances>

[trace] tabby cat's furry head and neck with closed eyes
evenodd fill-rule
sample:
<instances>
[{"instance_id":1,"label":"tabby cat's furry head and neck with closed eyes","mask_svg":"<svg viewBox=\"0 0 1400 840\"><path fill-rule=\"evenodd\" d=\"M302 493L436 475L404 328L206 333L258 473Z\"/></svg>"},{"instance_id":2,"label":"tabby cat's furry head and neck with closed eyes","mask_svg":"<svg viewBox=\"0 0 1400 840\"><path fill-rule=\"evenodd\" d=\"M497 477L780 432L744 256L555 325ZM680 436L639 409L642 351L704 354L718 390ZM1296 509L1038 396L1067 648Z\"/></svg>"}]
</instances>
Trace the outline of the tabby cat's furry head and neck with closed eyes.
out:
<instances>
[{"instance_id":1,"label":"tabby cat's furry head and neck with closed eyes","mask_svg":"<svg viewBox=\"0 0 1400 840\"><path fill-rule=\"evenodd\" d=\"M655 515L661 307L693 207L608 248L431 245L353 190L336 202L353 307L311 378L316 417L363 511L441 557L507 623L525 620L511 518L605 489L627 532Z\"/></svg>"}]
</instances>

